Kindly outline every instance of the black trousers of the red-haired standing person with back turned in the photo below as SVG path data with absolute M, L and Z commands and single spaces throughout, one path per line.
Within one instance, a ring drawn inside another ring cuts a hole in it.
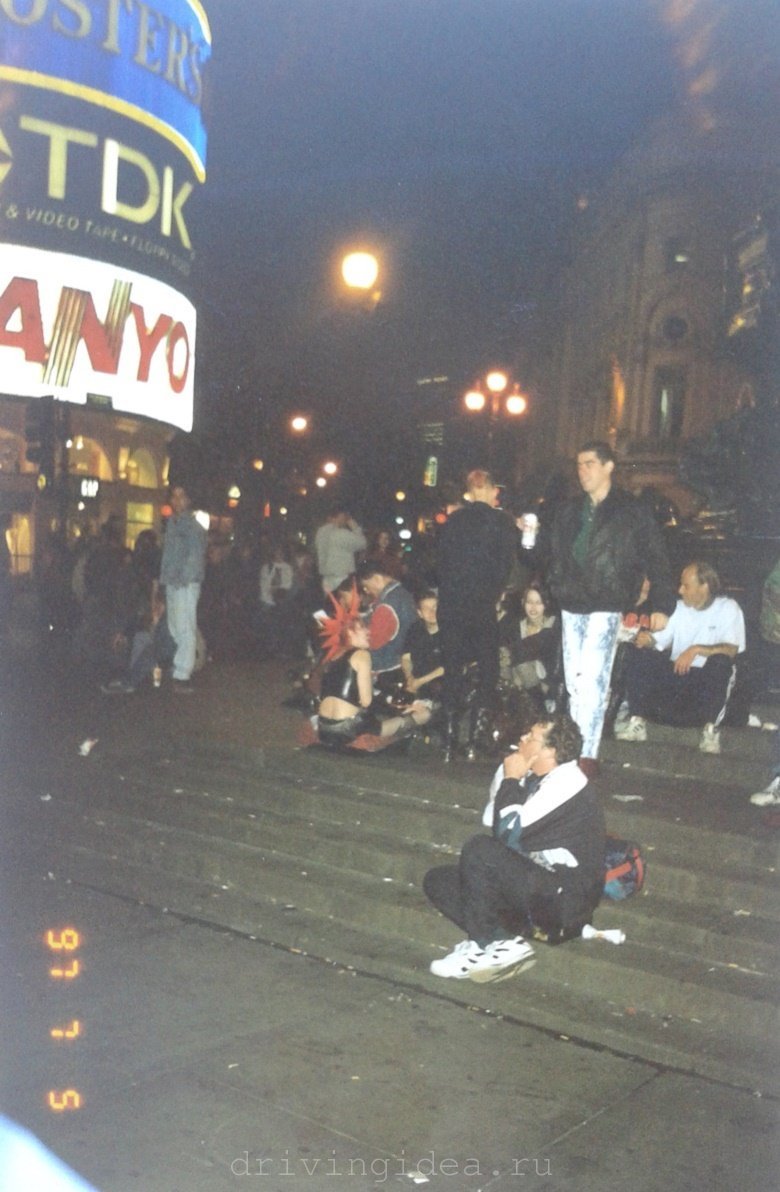
M 499 622 L 488 607 L 476 613 L 457 609 L 439 611 L 441 635 L 441 703 L 445 712 L 458 712 L 463 703 L 464 668 L 476 663 L 479 673 L 479 703 L 489 707 L 499 687 Z

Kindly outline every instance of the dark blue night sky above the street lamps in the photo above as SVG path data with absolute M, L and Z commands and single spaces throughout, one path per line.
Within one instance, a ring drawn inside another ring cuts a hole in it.
M 774 0 L 206 0 L 202 416 L 293 405 L 364 442 L 414 379 L 521 359 L 580 194 L 656 118 L 778 101 Z M 775 45 L 775 50 L 772 45 Z M 694 88 L 695 89 L 695 88 Z M 698 100 L 700 101 L 700 100 Z M 335 292 L 355 242 L 366 315 Z M 346 429 L 345 429 L 346 427 Z

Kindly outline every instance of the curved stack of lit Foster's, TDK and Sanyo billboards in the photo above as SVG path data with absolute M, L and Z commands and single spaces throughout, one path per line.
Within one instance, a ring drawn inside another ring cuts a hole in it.
M 5 392 L 191 428 L 210 54 L 200 0 L 0 0 Z

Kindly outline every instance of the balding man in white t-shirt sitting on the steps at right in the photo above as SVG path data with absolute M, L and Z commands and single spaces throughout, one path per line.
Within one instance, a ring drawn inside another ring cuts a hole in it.
M 636 638 L 626 668 L 631 719 L 615 737 L 646 740 L 648 720 L 704 726 L 699 749 L 719 753 L 735 659 L 745 647 L 744 617 L 735 600 L 720 595 L 720 579 L 708 563 L 685 567 L 680 596 L 666 628 Z

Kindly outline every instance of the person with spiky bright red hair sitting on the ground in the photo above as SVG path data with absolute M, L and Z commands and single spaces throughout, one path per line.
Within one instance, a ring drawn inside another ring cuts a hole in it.
M 431 719 L 431 709 L 414 702 L 402 715 L 380 714 L 373 694 L 369 628 L 360 619 L 358 592 L 353 589 L 349 608 L 338 600 L 332 598 L 332 603 L 335 615 L 322 622 L 326 664 L 320 685 L 320 743 L 340 749 L 364 733 L 411 735 Z

